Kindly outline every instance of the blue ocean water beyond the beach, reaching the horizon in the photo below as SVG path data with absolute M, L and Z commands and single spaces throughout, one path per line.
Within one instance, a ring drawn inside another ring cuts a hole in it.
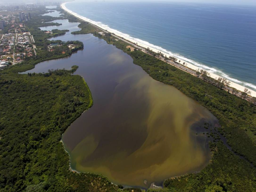
M 256 90 L 256 7 L 104 1 L 66 7 Z

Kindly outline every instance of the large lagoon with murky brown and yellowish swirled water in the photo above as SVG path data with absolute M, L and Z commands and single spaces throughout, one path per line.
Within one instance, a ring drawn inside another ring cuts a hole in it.
M 58 22 L 63 25 L 42 29 L 79 30 L 78 23 Z M 92 108 L 62 136 L 72 169 L 103 174 L 115 184 L 148 188 L 209 163 L 203 124 L 213 126 L 217 119 L 208 110 L 152 79 L 129 55 L 104 40 L 70 32 L 56 39 L 80 40 L 84 50 L 42 62 L 26 73 L 78 65 L 75 74 L 91 89 Z

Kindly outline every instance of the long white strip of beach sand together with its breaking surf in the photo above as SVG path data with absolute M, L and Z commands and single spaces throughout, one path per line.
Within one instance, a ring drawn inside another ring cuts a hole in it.
M 68 12 L 69 14 L 75 16 L 76 18 L 78 18 L 78 19 L 80 19 L 80 20 L 83 20 L 83 21 L 86 21 L 86 22 L 92 24 L 93 26 L 95 26 L 95 27 L 97 27 L 97 28 L 100 28 L 100 29 L 105 30 L 105 31 L 107 30 L 107 31 L 110 32 L 110 33 L 114 33 L 116 36 L 121 37 L 122 40 L 125 39 L 125 40 L 127 40 L 127 41 L 134 42 L 135 44 L 138 44 L 140 47 L 143 47 L 143 48 L 145 48 L 145 49 L 149 48 L 149 49 L 151 49 L 151 50 L 154 51 L 154 52 L 162 52 L 162 53 L 166 54 L 167 57 L 169 57 L 169 56 L 174 56 L 174 57 L 176 57 L 176 58 L 178 58 L 178 59 L 180 60 L 180 63 L 183 63 L 183 62 L 187 63 L 187 67 L 188 67 L 188 68 L 191 68 L 191 69 L 194 69 L 194 70 L 197 70 L 198 68 L 199 68 L 199 69 L 205 69 L 205 70 L 207 70 L 207 71 L 210 73 L 210 76 L 211 76 L 212 78 L 214 78 L 214 79 L 215 79 L 215 78 L 218 79 L 219 77 L 227 78 L 227 80 L 229 80 L 229 81 L 231 82 L 230 87 L 236 88 L 237 90 L 239 90 L 239 91 L 241 91 L 241 92 L 244 92 L 244 88 L 245 88 L 245 87 L 244 87 L 243 85 L 238 84 L 238 83 L 244 83 L 244 84 L 246 84 L 247 86 L 255 86 L 255 85 L 252 85 L 252 84 L 249 84 L 249 83 L 246 83 L 246 82 L 241 82 L 241 81 L 239 81 L 239 80 L 237 80 L 237 79 L 231 78 L 231 77 L 229 77 L 228 75 L 224 74 L 224 73 L 221 72 L 221 71 L 219 71 L 219 72 L 222 73 L 223 76 L 216 75 L 216 74 L 214 74 L 212 71 L 218 72 L 218 70 L 216 70 L 216 69 L 214 69 L 214 68 L 210 68 L 210 67 L 208 67 L 208 66 L 204 66 L 204 65 L 202 65 L 202 64 L 196 63 L 195 61 L 189 60 L 189 59 L 187 59 L 187 58 L 185 58 L 185 57 L 183 57 L 183 56 L 181 56 L 181 55 L 173 54 L 172 52 L 169 52 L 169 51 L 167 51 L 166 49 L 164 49 L 164 48 L 162 48 L 162 47 L 156 46 L 156 45 L 154 45 L 154 44 L 150 44 L 149 42 L 143 41 L 143 40 L 138 39 L 138 38 L 133 38 L 133 37 L 129 36 L 128 34 L 124 34 L 124 33 L 120 32 L 120 31 L 118 31 L 118 30 L 116 30 L 116 29 L 109 28 L 108 25 L 104 25 L 104 24 L 102 24 L 101 22 L 93 21 L 93 20 L 90 20 L 90 19 L 88 19 L 88 18 L 86 18 L 86 17 L 83 17 L 83 16 L 81 16 L 81 15 L 75 13 L 75 12 L 70 11 L 70 10 L 65 6 L 67 3 L 72 3 L 72 2 L 66 2 L 66 3 L 62 3 L 62 4 L 60 5 L 60 7 L 61 7 L 64 11 Z M 134 46 L 134 45 L 133 45 L 133 46 Z M 193 63 L 193 64 L 192 64 L 192 63 Z M 234 82 L 234 81 L 236 81 L 237 83 Z M 255 86 L 255 87 L 256 87 L 256 86 Z M 248 89 L 248 90 L 252 92 L 252 93 L 251 93 L 251 96 L 256 97 L 256 91 L 253 91 L 252 89 Z

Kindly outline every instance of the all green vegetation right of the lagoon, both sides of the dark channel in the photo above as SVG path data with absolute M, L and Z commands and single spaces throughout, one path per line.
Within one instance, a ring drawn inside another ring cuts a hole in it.
M 198 101 L 219 119 L 221 127 L 218 131 L 227 138 L 232 150 L 256 165 L 256 107 L 252 103 L 144 52 L 131 52 L 126 48 L 129 44 L 116 41 L 114 36 L 101 36 L 97 28 L 88 26 L 90 24 L 81 22 L 81 31 L 73 34 L 92 33 L 103 38 L 129 54 L 134 64 L 154 79 L 172 85 Z M 255 167 L 230 152 L 221 141 L 211 143 L 211 149 L 212 162 L 201 172 L 168 179 L 164 189 L 149 191 L 256 191 Z

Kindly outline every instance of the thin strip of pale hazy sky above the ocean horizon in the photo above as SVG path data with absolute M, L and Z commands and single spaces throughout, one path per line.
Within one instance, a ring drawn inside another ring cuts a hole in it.
M 68 1 L 68 0 L 66 0 Z M 76 1 L 95 1 L 95 0 L 76 0 Z M 103 0 L 97 0 L 101 2 Z M 159 2 L 159 0 L 104 0 L 114 2 Z M 256 0 L 160 0 L 162 2 L 189 2 L 189 3 L 214 3 L 214 4 L 241 4 L 241 5 L 256 5 Z M 36 3 L 36 2 L 65 2 L 65 0 L 0 0 L 0 3 Z

